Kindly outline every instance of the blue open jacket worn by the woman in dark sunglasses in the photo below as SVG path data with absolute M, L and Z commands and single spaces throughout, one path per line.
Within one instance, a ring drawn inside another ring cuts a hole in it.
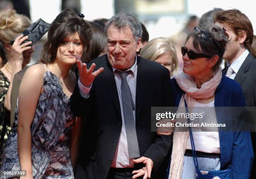
M 173 78 L 174 106 L 184 94 Z M 220 84 L 215 91 L 215 107 L 246 106 L 241 86 L 233 79 L 222 75 Z M 216 118 L 225 116 L 225 111 L 216 110 Z M 253 162 L 253 148 L 250 132 L 219 132 L 220 138 L 220 170 L 231 166 L 233 179 L 249 179 Z

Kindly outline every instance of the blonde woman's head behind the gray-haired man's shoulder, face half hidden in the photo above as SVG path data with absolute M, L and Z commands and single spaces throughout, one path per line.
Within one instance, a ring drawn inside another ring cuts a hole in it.
M 174 45 L 164 37 L 154 38 L 141 49 L 140 56 L 166 67 L 170 76 L 178 70 L 178 58 Z

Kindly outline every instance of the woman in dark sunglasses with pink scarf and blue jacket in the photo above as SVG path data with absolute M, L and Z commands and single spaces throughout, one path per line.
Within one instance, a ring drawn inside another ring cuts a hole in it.
M 204 110 L 202 119 L 209 123 L 219 123 L 223 116 L 217 113 L 217 107 L 223 109 L 245 106 L 241 87 L 234 80 L 225 77 L 219 67 L 228 36 L 225 29 L 219 26 L 212 26 L 208 31 L 195 27 L 193 32 L 182 47 L 183 72 L 174 74 L 172 79 L 175 106 L 179 106 L 178 113 L 193 113 L 197 107 L 209 107 L 209 110 Z M 231 116 L 228 118 L 233 120 Z M 182 120 L 189 123 L 186 118 L 177 119 L 176 124 Z M 219 131 L 220 128 L 195 132 L 196 129 L 190 128 L 191 135 L 188 128 L 183 129 L 177 126 L 174 129 L 167 178 L 195 179 L 199 177 L 200 170 L 209 174 L 209 171 L 217 172 L 211 178 L 249 178 L 253 159 L 249 132 L 223 132 Z M 220 177 L 219 173 L 223 172 L 225 177 Z M 206 178 L 206 175 L 201 178 Z

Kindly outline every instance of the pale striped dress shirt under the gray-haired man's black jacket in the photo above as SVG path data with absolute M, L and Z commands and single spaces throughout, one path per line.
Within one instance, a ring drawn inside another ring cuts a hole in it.
M 124 120 L 124 115 L 123 115 L 123 103 L 122 103 L 122 94 L 121 94 L 121 78 L 118 73 L 115 72 L 114 67 L 112 67 L 113 73 L 115 75 L 115 84 L 118 90 L 118 97 L 119 97 L 119 102 L 120 102 L 120 109 L 121 109 L 121 116 L 122 116 L 122 129 L 118 141 L 118 145 L 115 151 L 115 156 L 113 159 L 113 163 L 111 164 L 111 167 L 115 168 L 127 168 L 127 167 L 133 167 L 133 159 L 129 159 L 129 153 L 128 153 L 128 145 L 127 145 L 127 138 L 126 138 L 126 131 L 125 131 L 125 120 Z M 136 81 L 137 81 L 137 56 L 135 57 L 135 63 L 133 66 L 126 70 L 129 71 L 131 70 L 132 73 L 128 74 L 127 76 L 127 82 L 128 85 L 131 89 L 131 94 L 133 97 L 133 104 L 136 109 Z M 78 87 L 79 91 L 82 97 L 88 98 L 89 97 L 89 92 L 92 87 L 90 85 L 89 88 L 84 87 L 84 85 L 80 82 L 80 79 L 78 80 Z M 135 111 L 133 110 L 133 117 L 135 120 Z

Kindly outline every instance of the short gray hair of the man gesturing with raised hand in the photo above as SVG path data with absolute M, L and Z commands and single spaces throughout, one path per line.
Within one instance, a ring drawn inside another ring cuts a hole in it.
M 105 34 L 107 36 L 108 28 L 113 25 L 116 28 L 125 28 L 128 26 L 132 33 L 133 37 L 136 41 L 138 41 L 138 38 L 142 36 L 142 29 L 141 29 L 141 23 L 138 21 L 138 19 L 129 13 L 120 12 L 116 15 L 113 15 L 112 18 L 110 18 L 106 24 L 105 27 Z

